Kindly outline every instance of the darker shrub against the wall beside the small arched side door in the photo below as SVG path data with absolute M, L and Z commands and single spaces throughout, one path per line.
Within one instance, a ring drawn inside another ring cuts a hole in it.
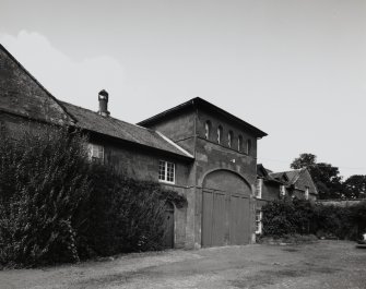
M 181 203 L 186 198 L 156 182 L 126 178 L 99 165 L 94 165 L 91 181 L 87 226 L 80 233 L 83 257 L 163 249 L 165 203 L 172 195 Z

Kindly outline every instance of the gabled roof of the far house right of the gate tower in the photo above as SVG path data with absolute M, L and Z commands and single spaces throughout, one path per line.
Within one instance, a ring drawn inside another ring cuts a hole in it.
M 296 189 L 303 191 L 305 191 L 306 188 L 309 188 L 310 193 L 318 194 L 318 190 L 311 179 L 309 171 L 306 168 L 290 171 L 271 172 L 269 174 L 276 180 L 285 181 L 287 179 L 287 185 L 294 185 Z

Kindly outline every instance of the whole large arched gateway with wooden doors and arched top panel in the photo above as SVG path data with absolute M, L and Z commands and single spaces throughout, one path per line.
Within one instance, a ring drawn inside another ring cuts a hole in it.
M 249 243 L 249 184 L 235 172 L 215 170 L 202 186 L 202 246 Z

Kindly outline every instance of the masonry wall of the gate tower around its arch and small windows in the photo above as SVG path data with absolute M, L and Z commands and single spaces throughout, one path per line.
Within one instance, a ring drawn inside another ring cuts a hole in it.
M 208 120 L 211 123 L 211 134 L 210 139 L 205 140 L 204 124 Z M 223 128 L 220 144 L 216 136 L 219 125 Z M 194 164 L 189 167 L 189 177 L 187 178 L 189 189 L 187 189 L 186 248 L 201 246 L 202 185 L 205 176 L 213 171 L 227 170 L 237 173 L 250 188 L 248 221 L 250 222 L 250 231 L 253 233 L 256 200 L 252 192 L 257 178 L 257 137 L 236 122 L 194 107 L 188 107 L 174 116 L 166 117 L 150 128 L 161 131 L 196 157 Z M 231 147 L 227 145 L 229 131 L 233 132 L 234 136 Z M 241 149 L 237 143 L 239 135 L 243 140 Z M 246 150 L 247 140 L 250 140 L 251 144 L 249 152 Z M 225 178 L 224 173 L 223 178 Z M 223 179 L 224 181 L 225 179 Z M 233 190 L 235 191 L 235 189 Z

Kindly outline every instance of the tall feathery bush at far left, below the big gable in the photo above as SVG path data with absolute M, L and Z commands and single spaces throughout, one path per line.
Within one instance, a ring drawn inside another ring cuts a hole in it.
M 79 260 L 74 213 L 91 189 L 84 139 L 67 129 L 0 137 L 0 263 Z

